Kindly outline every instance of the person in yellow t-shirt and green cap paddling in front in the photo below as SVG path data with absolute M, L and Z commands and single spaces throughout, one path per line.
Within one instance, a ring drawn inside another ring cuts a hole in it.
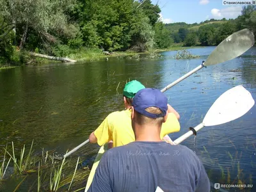
M 98 143 L 100 146 L 113 141 L 113 147 L 126 145 L 135 141 L 131 125 L 131 106 L 134 95 L 145 88 L 139 81 L 130 81 L 124 88 L 124 111 L 110 113 L 99 127 L 90 134 L 90 143 Z M 168 134 L 180 131 L 179 113 L 168 104 L 168 118 L 164 122 L 160 136 L 164 140 L 170 140 Z M 171 140 L 172 141 L 172 140 Z M 110 147 L 111 148 L 111 147 Z

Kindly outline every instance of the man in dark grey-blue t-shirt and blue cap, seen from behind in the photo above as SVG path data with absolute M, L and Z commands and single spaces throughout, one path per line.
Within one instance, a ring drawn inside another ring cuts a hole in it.
M 142 89 L 131 110 L 136 141 L 102 156 L 88 191 L 210 191 L 209 178 L 196 154 L 159 137 L 168 116 L 164 94 L 154 88 Z

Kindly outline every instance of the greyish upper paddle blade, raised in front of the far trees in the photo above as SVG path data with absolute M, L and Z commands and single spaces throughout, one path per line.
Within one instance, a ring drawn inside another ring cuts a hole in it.
M 204 65 L 216 65 L 218 63 L 233 60 L 250 49 L 254 42 L 254 35 L 249 29 L 237 31 L 225 38 L 225 40 L 212 51 Z

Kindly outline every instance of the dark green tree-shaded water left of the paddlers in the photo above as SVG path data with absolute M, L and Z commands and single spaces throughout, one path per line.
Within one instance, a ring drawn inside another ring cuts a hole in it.
M 0 77 L 0 126 L 4 130 L 0 143 L 4 145 L 15 131 L 12 140 L 20 145 L 33 139 L 38 145 L 49 145 L 86 137 L 108 113 L 124 108 L 126 81 L 138 79 L 154 87 L 162 67 L 154 60 L 109 59 L 4 70 Z

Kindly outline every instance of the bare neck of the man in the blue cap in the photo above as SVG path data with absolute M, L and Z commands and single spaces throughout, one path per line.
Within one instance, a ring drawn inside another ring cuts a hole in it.
M 155 126 L 147 125 L 136 127 L 135 141 L 163 141 L 160 138 L 161 129 L 156 129 Z

